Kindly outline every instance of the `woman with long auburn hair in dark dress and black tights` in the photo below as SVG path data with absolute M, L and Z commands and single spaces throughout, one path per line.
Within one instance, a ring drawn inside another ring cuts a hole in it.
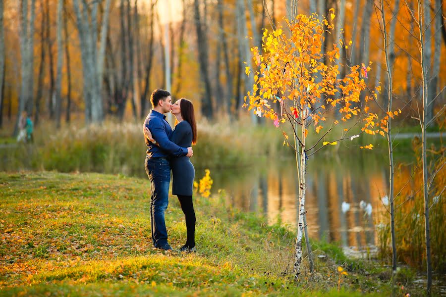
M 176 118 L 175 128 L 170 135 L 170 141 L 184 148 L 197 142 L 197 125 L 195 123 L 194 105 L 185 98 L 177 100 L 170 111 Z M 152 140 L 152 135 L 146 135 Z M 180 251 L 195 251 L 195 211 L 192 203 L 193 183 L 195 177 L 194 165 L 187 156 L 170 157 L 172 170 L 172 194 L 178 197 L 181 209 L 186 217 L 187 240 Z

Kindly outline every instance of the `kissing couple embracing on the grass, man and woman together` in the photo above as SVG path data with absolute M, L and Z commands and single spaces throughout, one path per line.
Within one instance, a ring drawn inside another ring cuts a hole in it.
M 194 105 L 185 98 L 172 104 L 166 90 L 153 91 L 150 102 L 152 111 L 144 121 L 143 133 L 147 145 L 144 167 L 149 176 L 152 197 L 150 201 L 150 222 L 153 245 L 172 250 L 167 242 L 165 212 L 168 205 L 170 170 L 172 170 L 172 194 L 178 197 L 186 217 L 187 240 L 180 251 L 195 251 L 195 211 L 192 203 L 194 165 L 192 144 L 197 142 Z M 172 130 L 165 113 L 176 118 Z

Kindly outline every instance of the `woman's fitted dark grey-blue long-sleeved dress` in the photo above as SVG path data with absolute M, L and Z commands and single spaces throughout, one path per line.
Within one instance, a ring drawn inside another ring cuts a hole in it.
M 176 145 L 188 148 L 192 146 L 192 127 L 186 121 L 179 122 L 172 131 L 170 141 Z M 170 168 L 172 169 L 173 182 L 172 194 L 192 196 L 195 169 L 190 158 L 170 157 Z

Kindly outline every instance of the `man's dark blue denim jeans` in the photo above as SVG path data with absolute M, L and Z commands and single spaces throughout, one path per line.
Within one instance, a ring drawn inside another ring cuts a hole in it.
M 167 230 L 164 213 L 169 203 L 170 164 L 166 158 L 149 158 L 145 161 L 152 197 L 150 200 L 150 222 L 155 247 L 167 244 Z

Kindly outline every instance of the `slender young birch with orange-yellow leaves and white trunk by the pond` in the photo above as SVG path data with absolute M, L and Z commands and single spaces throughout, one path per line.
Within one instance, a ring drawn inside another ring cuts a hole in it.
M 329 15 L 333 20 L 334 9 L 330 9 Z M 248 76 L 254 76 L 254 84 L 252 91 L 245 97 L 244 106 L 257 116 L 273 120 L 274 125 L 282 130 L 284 144 L 296 152 L 300 189 L 294 260 L 294 277 L 297 280 L 303 259 L 307 159 L 321 149 L 337 145 L 337 142 L 353 141 L 358 135 L 354 135 L 351 128 L 361 120 L 365 123 L 361 133 L 384 134 L 386 126 L 375 113 L 368 112 L 367 104 L 365 106 L 358 104 L 359 95 L 366 88 L 362 78 L 370 71 L 370 67 L 352 66 L 344 77 L 338 79 L 338 68 L 322 62 L 324 58 L 329 61 L 339 58 L 336 46 L 324 54 L 321 53 L 324 45 L 322 33 L 325 30 L 333 31 L 333 25 L 325 18 L 320 21 L 317 15 L 308 17 L 302 14 L 297 16 L 295 24 L 290 24 L 287 20 L 287 25 L 291 29 L 291 37 L 287 37 L 280 27 L 271 33 L 265 30 L 263 43 L 265 51 L 259 52 L 257 47 L 252 49 L 253 60 L 260 70 L 251 73 L 250 68 L 246 69 Z M 318 74 L 320 80 L 316 80 Z M 366 103 L 374 96 L 375 91 L 372 91 L 371 96 L 365 97 Z M 327 99 L 322 101 L 324 97 Z M 274 110 L 271 106 L 277 101 L 280 109 Z M 320 107 L 310 110 L 309 107 L 314 106 L 317 101 Z M 339 121 L 328 115 L 336 108 L 343 114 L 341 121 L 353 124 L 347 131 L 338 132 L 339 135 L 334 136 L 329 133 Z M 296 145 L 293 145 L 287 131 L 283 129 L 285 123 L 288 124 L 288 129 L 291 129 Z M 314 143 L 310 143 L 308 141 L 310 131 L 322 136 Z M 372 149 L 373 145 L 361 148 Z

